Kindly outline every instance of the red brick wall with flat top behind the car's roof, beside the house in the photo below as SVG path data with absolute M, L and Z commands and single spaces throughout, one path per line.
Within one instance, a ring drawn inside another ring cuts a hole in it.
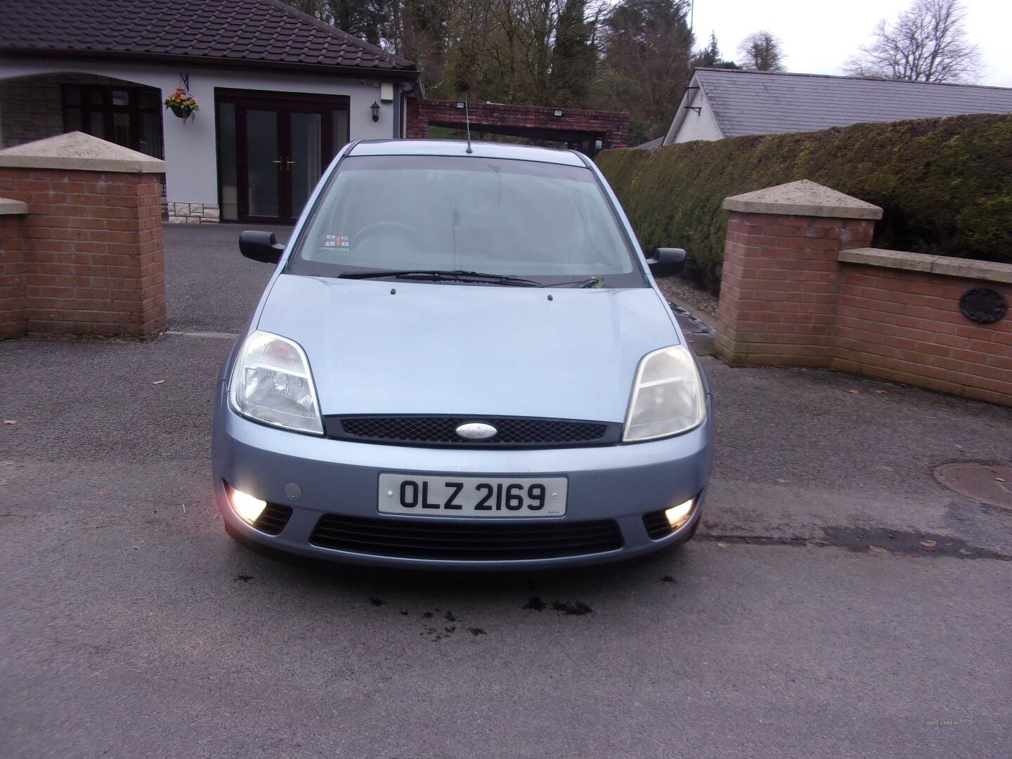
M 595 136 L 602 140 L 605 148 L 625 145 L 629 114 L 624 111 L 563 108 L 563 115 L 554 113 L 555 108 L 538 105 L 468 104 L 468 116 L 476 132 L 482 126 L 558 130 Z M 454 100 L 409 100 L 407 137 L 428 137 L 430 123 L 463 129 L 463 109 L 457 108 Z

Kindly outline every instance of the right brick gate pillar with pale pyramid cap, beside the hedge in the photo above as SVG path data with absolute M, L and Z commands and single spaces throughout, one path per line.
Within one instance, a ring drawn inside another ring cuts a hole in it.
M 731 364 L 829 366 L 840 250 L 871 243 L 881 208 L 800 180 L 729 197 L 715 351 Z

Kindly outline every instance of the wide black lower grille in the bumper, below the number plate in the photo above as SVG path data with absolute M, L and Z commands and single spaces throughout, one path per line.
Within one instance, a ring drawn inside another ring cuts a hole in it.
M 611 519 L 477 524 L 441 518 L 375 519 L 325 514 L 317 522 L 310 542 L 325 549 L 398 559 L 505 562 L 615 551 L 622 546 L 622 535 Z

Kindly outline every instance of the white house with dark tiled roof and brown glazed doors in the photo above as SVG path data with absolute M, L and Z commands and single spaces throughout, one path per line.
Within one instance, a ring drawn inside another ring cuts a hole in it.
M 0 148 L 81 131 L 164 158 L 172 222 L 293 221 L 344 143 L 404 136 L 424 95 L 409 61 L 279 0 L 4 5 Z

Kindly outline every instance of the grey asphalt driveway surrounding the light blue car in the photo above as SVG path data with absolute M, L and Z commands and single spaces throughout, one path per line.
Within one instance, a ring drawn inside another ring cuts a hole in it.
M 0 343 L 0 756 L 1008 756 L 1012 511 L 931 471 L 1008 463 L 1012 410 L 731 369 L 697 332 L 718 457 L 683 551 L 292 566 L 210 499 L 216 333 L 269 267 L 165 232 L 169 334 Z

